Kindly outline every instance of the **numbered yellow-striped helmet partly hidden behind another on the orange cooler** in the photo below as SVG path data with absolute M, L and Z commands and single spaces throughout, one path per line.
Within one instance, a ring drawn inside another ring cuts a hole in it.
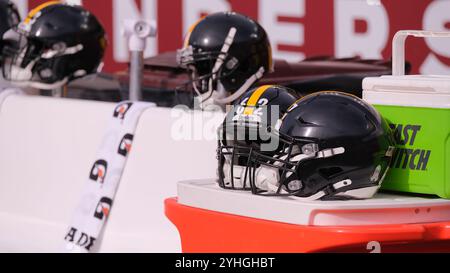
M 245 93 L 228 112 L 219 128 L 219 186 L 250 190 L 247 168 L 252 153 L 272 156 L 279 149 L 270 133 L 296 98 L 295 91 L 266 85 Z

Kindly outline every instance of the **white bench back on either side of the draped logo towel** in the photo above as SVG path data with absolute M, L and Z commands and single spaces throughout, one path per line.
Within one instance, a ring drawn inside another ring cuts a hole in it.
M 25 96 L 4 101 L 0 252 L 61 250 L 114 106 Z M 181 251 L 163 202 L 176 196 L 177 181 L 215 176 L 217 143 L 174 140 L 174 122 L 170 109 L 154 108 L 141 117 L 100 252 Z

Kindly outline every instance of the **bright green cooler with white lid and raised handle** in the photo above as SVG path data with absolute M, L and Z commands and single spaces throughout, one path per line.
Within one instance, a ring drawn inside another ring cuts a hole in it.
M 398 32 L 393 75 L 363 82 L 364 99 L 389 121 L 398 144 L 383 188 L 450 199 L 450 75 L 405 76 L 408 36 L 450 38 L 450 32 Z

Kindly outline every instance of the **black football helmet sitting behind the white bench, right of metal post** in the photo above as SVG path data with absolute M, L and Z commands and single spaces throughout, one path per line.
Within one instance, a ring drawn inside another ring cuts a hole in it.
M 266 31 L 235 12 L 214 13 L 192 26 L 177 60 L 201 102 L 219 105 L 231 104 L 273 70 Z

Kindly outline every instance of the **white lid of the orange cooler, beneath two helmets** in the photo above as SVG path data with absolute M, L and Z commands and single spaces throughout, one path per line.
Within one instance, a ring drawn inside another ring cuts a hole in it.
M 182 205 L 307 226 L 366 226 L 450 221 L 450 200 L 378 194 L 357 201 L 299 201 L 223 190 L 214 180 L 178 183 Z

